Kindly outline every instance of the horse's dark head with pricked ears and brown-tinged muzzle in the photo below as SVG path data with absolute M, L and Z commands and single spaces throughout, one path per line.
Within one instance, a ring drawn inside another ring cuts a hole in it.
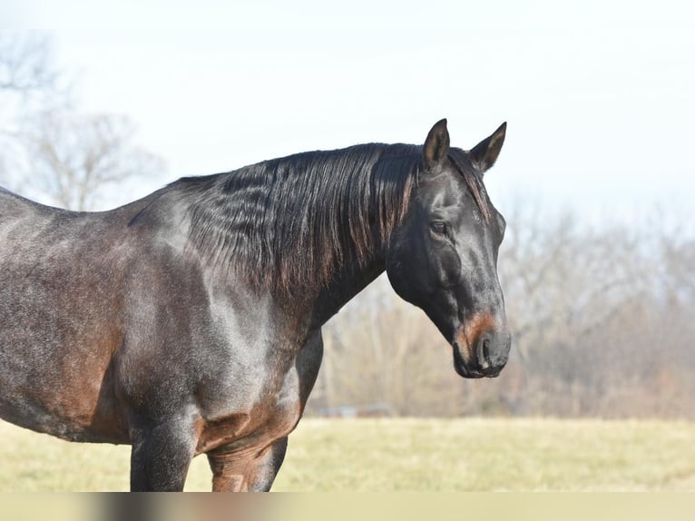
M 505 222 L 483 184 L 505 130 L 506 123 L 464 151 L 450 147 L 446 120 L 436 123 L 406 214 L 387 247 L 391 285 L 436 324 L 465 378 L 496 377 L 511 346 L 497 277 Z

